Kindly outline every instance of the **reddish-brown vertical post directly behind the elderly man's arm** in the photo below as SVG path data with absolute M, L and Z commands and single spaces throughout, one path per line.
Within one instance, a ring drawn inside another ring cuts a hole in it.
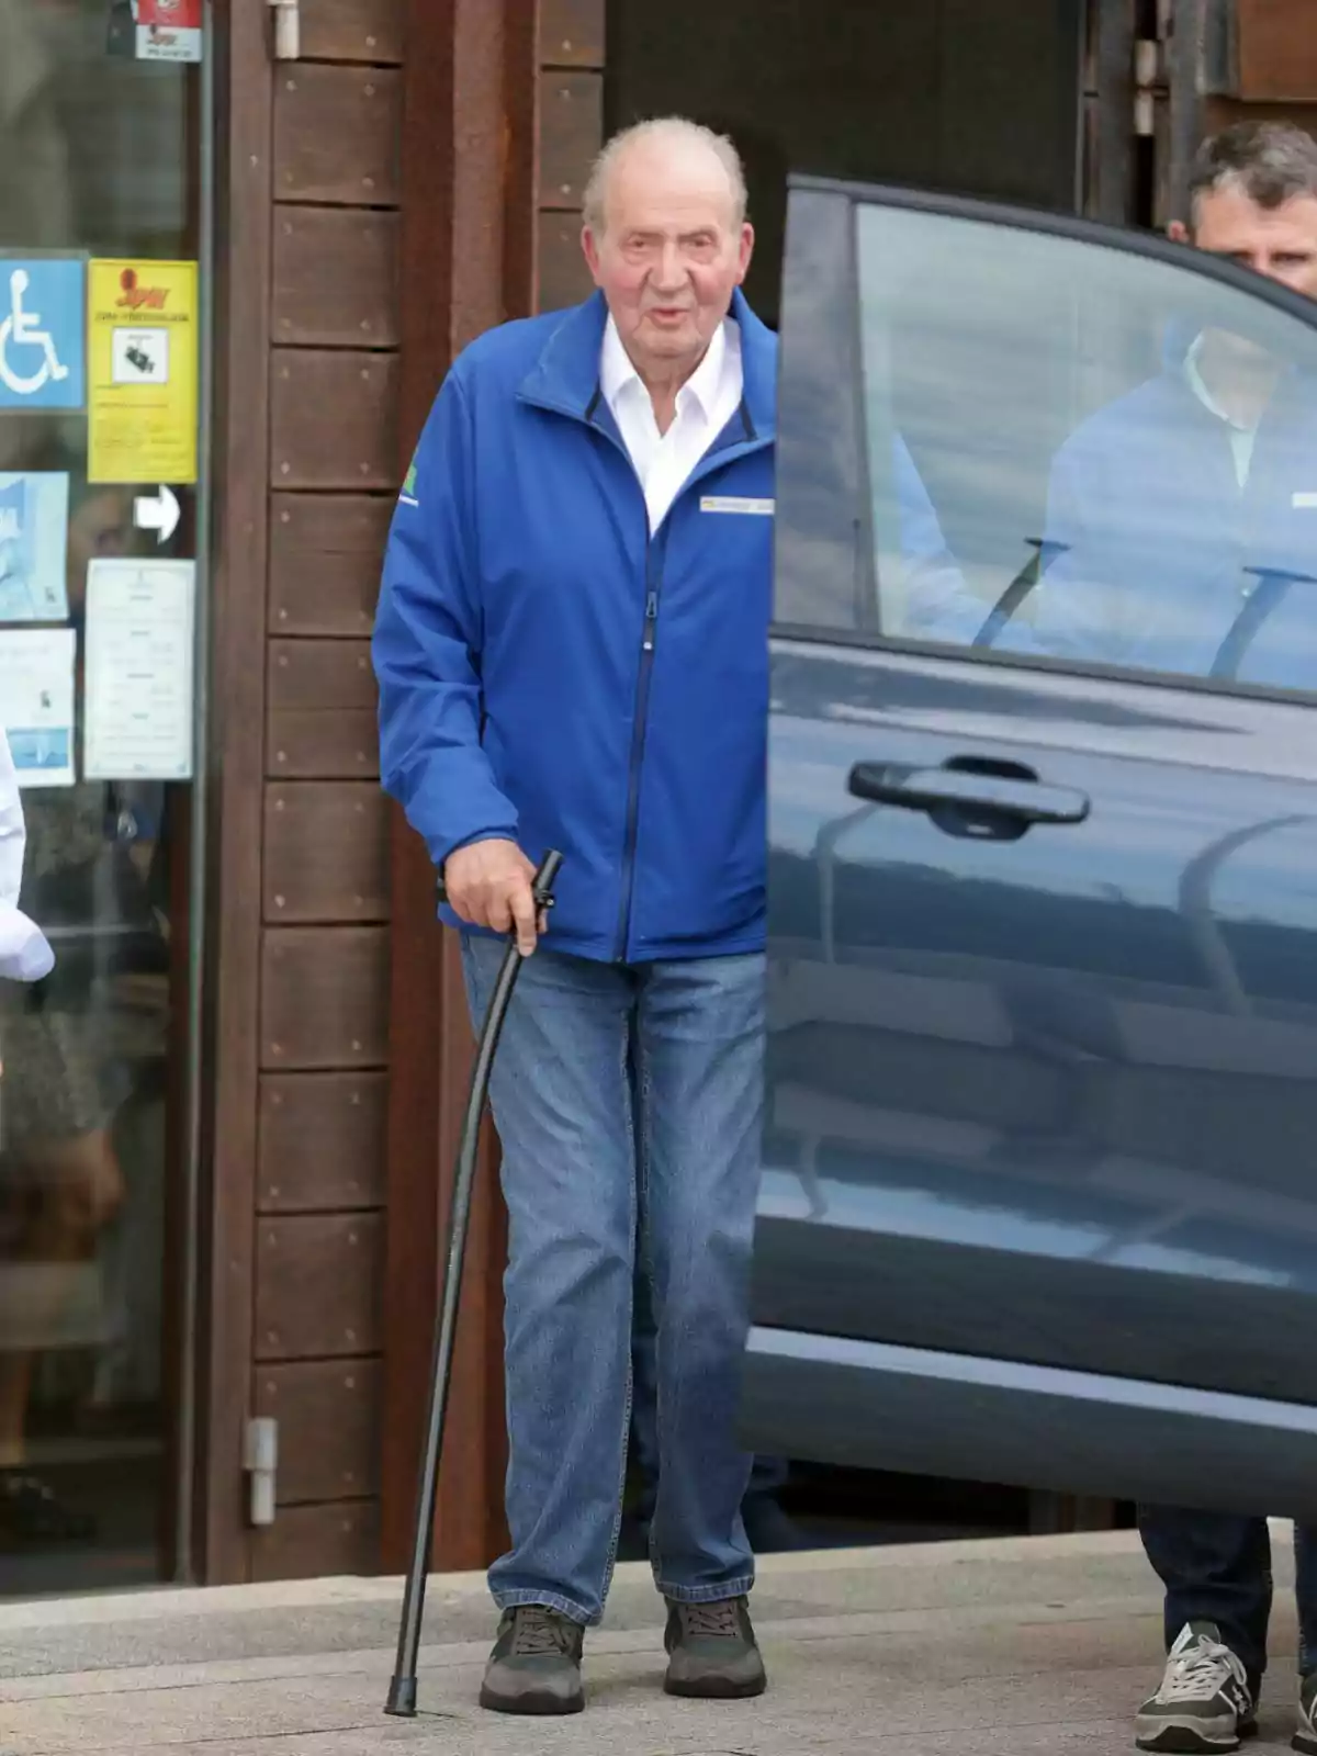
M 407 0 L 402 116 L 400 465 L 455 355 L 534 309 L 537 0 Z M 395 811 L 381 1563 L 414 1519 L 451 1168 L 471 1068 L 455 936 L 434 869 Z M 502 1259 L 497 1147 L 486 1129 L 467 1247 L 435 1565 L 483 1566 L 502 1542 Z

